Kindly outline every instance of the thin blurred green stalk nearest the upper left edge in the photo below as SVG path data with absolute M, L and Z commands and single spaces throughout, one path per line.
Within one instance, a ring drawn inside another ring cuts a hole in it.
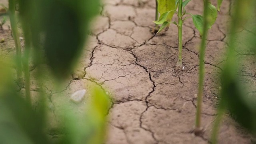
M 12 36 L 15 42 L 16 48 L 16 72 L 17 72 L 17 81 L 19 84 L 23 83 L 22 77 L 22 58 L 21 58 L 21 46 L 20 46 L 20 38 L 18 33 L 18 26 L 15 14 L 15 0 L 9 0 L 9 16 L 12 28 Z

